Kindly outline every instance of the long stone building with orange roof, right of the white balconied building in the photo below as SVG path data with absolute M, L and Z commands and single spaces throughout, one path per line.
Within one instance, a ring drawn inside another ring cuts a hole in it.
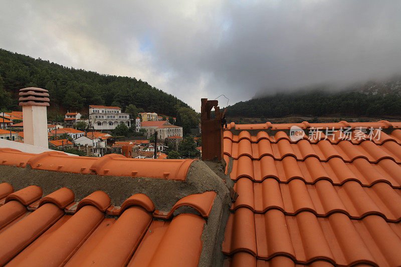
M 157 138 L 164 140 L 170 136 L 182 137 L 182 127 L 172 125 L 168 121 L 145 121 L 141 122 L 141 129 L 146 129 L 146 136 L 149 138 L 157 131 Z

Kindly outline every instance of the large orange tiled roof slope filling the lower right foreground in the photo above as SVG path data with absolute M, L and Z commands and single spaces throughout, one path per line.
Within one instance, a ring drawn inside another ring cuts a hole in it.
M 227 264 L 400 265 L 401 130 L 380 133 L 294 142 L 284 132 L 225 131 L 238 193 L 222 246 Z

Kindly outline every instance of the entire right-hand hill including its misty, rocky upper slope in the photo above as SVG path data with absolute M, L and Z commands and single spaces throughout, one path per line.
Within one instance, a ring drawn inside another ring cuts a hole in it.
M 258 93 L 228 107 L 229 117 L 400 116 L 401 76 L 343 87 L 317 85 L 283 93 Z

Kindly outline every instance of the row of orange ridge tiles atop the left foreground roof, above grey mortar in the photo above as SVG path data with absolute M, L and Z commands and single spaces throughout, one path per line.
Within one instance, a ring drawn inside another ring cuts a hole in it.
M 101 158 L 68 156 L 50 151 L 41 154 L 24 153 L 16 149 L 0 148 L 0 165 L 82 174 L 150 177 L 185 180 L 192 159 L 131 159 L 108 154 Z

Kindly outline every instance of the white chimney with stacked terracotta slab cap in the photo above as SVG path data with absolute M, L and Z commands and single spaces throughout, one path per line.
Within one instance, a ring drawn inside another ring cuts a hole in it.
M 20 106 L 24 117 L 24 143 L 49 148 L 47 135 L 47 106 L 49 91 L 29 87 L 20 90 Z

